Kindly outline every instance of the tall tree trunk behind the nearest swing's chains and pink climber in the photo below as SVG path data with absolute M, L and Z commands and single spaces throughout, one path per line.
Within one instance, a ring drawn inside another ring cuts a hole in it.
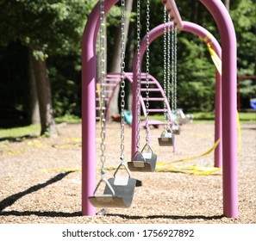
M 130 22 L 130 13 L 133 8 L 133 1 L 127 1 L 126 3 L 126 18 L 125 18 L 125 46 L 128 40 L 128 29 L 129 29 L 129 22 Z M 110 66 L 110 72 L 120 72 L 121 71 L 121 28 L 116 28 L 116 40 L 115 40 L 115 46 L 113 50 L 113 57 L 112 57 L 112 63 Z M 118 108 L 118 96 L 119 96 L 119 90 L 120 88 L 116 88 L 116 91 L 112 97 L 112 101 L 109 105 L 109 117 L 111 115 L 119 114 L 119 108 Z M 109 120 L 108 120 L 109 121 Z

